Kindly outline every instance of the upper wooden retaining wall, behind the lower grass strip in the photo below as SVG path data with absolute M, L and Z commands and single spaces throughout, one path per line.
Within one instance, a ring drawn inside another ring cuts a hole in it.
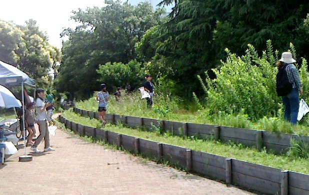
M 97 112 L 84 111 L 74 108 L 76 113 L 93 118 L 97 116 Z M 216 126 L 207 124 L 183 123 L 168 120 L 157 120 L 152 118 L 140 118 L 132 116 L 120 116 L 116 114 L 106 114 L 106 119 L 111 122 L 121 122 L 129 127 L 144 126 L 150 129 L 152 126 L 160 127 L 164 131 L 169 131 L 173 135 L 178 136 L 196 136 L 199 139 L 212 138 L 222 142 L 232 141 L 241 143 L 246 146 L 255 146 L 257 149 L 265 147 L 267 150 L 275 152 L 286 152 L 290 146 L 291 138 L 309 143 L 309 136 L 272 133 L 263 130 L 244 129 L 227 126 Z

